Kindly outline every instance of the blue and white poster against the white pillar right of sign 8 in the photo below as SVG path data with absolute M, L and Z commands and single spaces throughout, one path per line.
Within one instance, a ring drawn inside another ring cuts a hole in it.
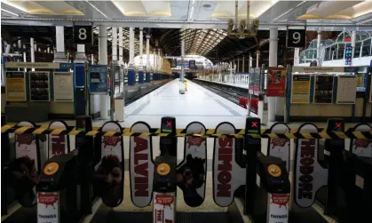
M 106 65 L 89 67 L 89 89 L 91 93 L 106 94 L 108 92 Z

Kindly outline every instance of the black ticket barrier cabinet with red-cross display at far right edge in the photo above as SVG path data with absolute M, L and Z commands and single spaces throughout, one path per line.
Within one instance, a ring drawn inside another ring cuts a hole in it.
M 327 131 L 344 131 L 344 120 L 328 119 Z M 363 222 L 372 211 L 372 158 L 344 149 L 344 139 L 325 139 L 328 185 L 316 196 L 324 214 L 338 222 Z

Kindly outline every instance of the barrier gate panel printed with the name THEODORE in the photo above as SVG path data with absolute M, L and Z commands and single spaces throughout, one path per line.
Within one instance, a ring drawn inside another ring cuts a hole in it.
M 304 123 L 298 132 L 318 132 L 313 123 Z M 294 167 L 294 199 L 299 207 L 313 205 L 318 190 L 328 183 L 328 170 L 318 162 L 319 139 L 297 139 Z

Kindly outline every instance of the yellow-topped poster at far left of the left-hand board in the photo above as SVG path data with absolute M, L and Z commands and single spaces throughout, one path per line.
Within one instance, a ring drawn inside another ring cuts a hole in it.
M 26 73 L 20 71 L 7 71 L 5 74 L 6 100 L 27 101 Z

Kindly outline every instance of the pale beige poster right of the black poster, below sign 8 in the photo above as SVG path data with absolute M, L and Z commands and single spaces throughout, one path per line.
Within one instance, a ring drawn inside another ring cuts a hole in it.
M 74 76 L 71 72 L 54 72 L 53 89 L 55 101 L 74 101 Z

